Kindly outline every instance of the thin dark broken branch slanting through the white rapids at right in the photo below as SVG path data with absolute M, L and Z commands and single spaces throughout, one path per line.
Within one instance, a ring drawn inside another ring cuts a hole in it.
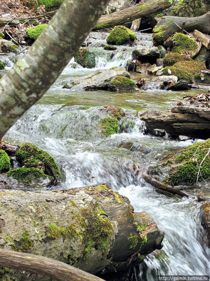
M 189 193 L 187 193 L 187 192 L 185 192 L 185 191 L 183 191 L 183 190 L 181 190 L 181 189 L 179 189 L 175 186 L 163 184 L 160 181 L 152 178 L 150 175 L 148 175 L 146 173 L 143 173 L 142 177 L 147 183 L 151 184 L 152 186 L 154 186 L 155 188 L 158 188 L 160 190 L 164 190 L 164 191 L 167 191 L 167 192 L 172 193 L 172 194 L 177 194 L 177 195 L 180 195 L 181 197 L 195 198 L 198 201 L 206 200 L 206 198 L 203 198 L 202 196 L 190 195 Z

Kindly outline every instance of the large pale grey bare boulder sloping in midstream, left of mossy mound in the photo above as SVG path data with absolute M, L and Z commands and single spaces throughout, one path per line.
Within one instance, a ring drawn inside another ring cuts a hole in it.
M 72 91 L 109 90 L 111 81 L 117 76 L 130 78 L 130 74 L 124 67 L 98 69 L 67 82 L 63 88 L 71 89 Z M 113 90 L 113 87 L 111 87 L 111 90 Z

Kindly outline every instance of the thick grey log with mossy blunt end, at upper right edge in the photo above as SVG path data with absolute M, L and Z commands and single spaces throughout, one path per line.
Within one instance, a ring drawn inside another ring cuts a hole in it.
M 210 34 L 210 12 L 200 17 L 173 17 L 165 16 L 157 22 L 153 28 L 153 43 L 160 45 L 175 32 L 181 32 L 181 27 L 185 21 L 184 30 L 193 32 L 197 29 L 200 32 Z

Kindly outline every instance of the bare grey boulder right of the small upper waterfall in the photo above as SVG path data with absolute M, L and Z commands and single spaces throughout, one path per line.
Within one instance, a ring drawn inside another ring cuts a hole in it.
M 160 52 L 158 50 L 158 47 L 142 47 L 133 50 L 132 52 L 133 59 L 138 59 L 139 61 L 142 60 L 142 58 L 150 59 L 150 58 L 159 58 Z

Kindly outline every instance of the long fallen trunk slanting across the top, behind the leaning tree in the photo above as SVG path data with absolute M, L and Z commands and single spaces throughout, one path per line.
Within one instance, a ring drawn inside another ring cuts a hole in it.
M 139 17 L 159 12 L 170 6 L 171 4 L 168 0 L 148 0 L 142 4 L 134 5 L 122 11 L 101 16 L 94 30 L 120 25 L 125 22 L 131 22 Z

